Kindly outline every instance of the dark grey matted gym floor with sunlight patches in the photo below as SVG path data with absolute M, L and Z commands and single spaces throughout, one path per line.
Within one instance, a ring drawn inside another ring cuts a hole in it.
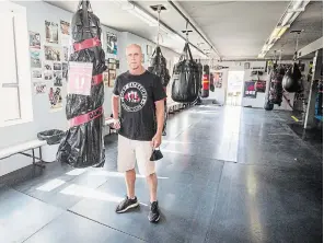
M 116 142 L 106 137 L 104 170 L 54 163 L 7 183 L 0 242 L 322 242 L 322 157 L 279 113 L 196 106 L 171 117 L 157 162 L 159 224 L 147 219 L 143 177 L 140 208 L 115 213 L 125 196 Z

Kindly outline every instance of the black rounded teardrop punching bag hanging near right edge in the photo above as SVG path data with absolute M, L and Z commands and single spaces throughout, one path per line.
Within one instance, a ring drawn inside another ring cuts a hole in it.
M 300 79 L 301 72 L 298 65 L 294 62 L 293 66 L 288 69 L 282 79 L 282 88 L 289 93 L 299 92 L 301 89 Z

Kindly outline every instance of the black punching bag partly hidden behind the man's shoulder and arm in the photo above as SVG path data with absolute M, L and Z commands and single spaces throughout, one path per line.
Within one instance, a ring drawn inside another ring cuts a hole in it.
M 166 59 L 163 57 L 160 46 L 157 46 L 152 54 L 151 63 L 148 70 L 155 76 L 160 77 L 164 91 L 166 92 L 166 86 L 170 82 L 170 74 L 166 68 Z M 166 99 L 164 99 L 164 126 L 163 126 L 163 135 L 166 135 L 166 119 L 167 119 L 167 106 Z

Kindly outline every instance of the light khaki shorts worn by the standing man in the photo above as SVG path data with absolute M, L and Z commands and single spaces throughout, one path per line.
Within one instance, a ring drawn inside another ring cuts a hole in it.
M 152 154 L 151 141 L 130 140 L 118 135 L 118 171 L 135 169 L 137 162 L 139 173 L 144 176 L 155 173 L 155 163 L 150 161 Z

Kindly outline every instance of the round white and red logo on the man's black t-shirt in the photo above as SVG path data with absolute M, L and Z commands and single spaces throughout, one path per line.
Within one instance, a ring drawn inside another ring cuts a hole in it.
M 121 106 L 127 112 L 138 112 L 147 103 L 147 90 L 138 82 L 130 82 L 120 92 Z

